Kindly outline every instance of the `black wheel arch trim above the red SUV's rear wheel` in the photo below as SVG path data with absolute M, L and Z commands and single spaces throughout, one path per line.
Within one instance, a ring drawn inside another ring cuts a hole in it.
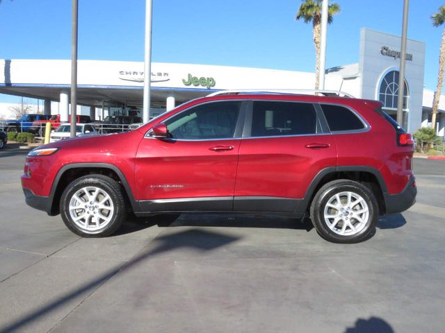
M 325 169 L 322 169 L 319 171 L 314 179 L 312 180 L 311 184 L 306 190 L 304 198 L 302 200 L 299 200 L 297 212 L 306 212 L 309 208 L 309 205 L 311 203 L 311 200 L 314 196 L 314 192 L 318 185 L 320 184 L 321 180 L 325 178 L 325 176 L 329 175 L 330 173 L 336 173 L 341 171 L 362 171 L 362 172 L 368 172 L 371 173 L 375 178 L 377 178 L 378 183 L 380 185 L 380 189 L 382 189 L 383 197 L 386 198 L 387 196 L 387 185 L 385 183 L 385 180 L 383 179 L 382 174 L 378 169 L 375 169 L 373 167 L 367 167 L 362 165 L 347 165 L 347 166 L 337 166 L 337 167 L 327 167 Z

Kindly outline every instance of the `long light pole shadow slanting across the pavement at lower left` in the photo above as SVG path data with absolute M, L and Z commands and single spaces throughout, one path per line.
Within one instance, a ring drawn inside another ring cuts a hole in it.
M 238 241 L 241 237 L 234 237 L 233 235 L 224 234 L 223 232 L 210 232 L 200 230 L 197 228 L 183 230 L 166 234 L 165 236 L 156 237 L 156 239 L 149 242 L 150 246 L 146 246 L 136 257 L 133 257 L 129 262 L 115 266 L 106 272 L 99 275 L 88 282 L 81 284 L 74 291 L 61 293 L 58 298 L 50 302 L 43 303 L 42 306 L 34 309 L 28 314 L 24 314 L 15 321 L 0 327 L 0 332 L 15 332 L 25 330 L 26 325 L 31 325 L 34 321 L 42 316 L 47 316 L 52 311 L 67 305 L 74 298 L 83 294 L 83 299 L 79 300 L 79 304 L 83 302 L 86 297 L 89 297 L 94 291 L 99 289 L 103 284 L 110 280 L 116 273 L 122 273 L 133 269 L 142 262 L 146 262 L 152 257 L 161 253 L 166 253 L 178 248 L 191 248 L 197 252 L 211 251 L 221 246 L 226 246 L 234 241 Z M 148 244 L 147 244 L 148 245 Z M 54 323 L 56 325 L 56 323 Z M 30 330 L 30 327 L 26 327 Z M 32 330 L 31 330 L 32 331 Z

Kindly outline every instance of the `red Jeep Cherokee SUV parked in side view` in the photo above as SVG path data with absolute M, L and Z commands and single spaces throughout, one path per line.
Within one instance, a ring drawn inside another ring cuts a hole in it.
M 366 239 L 379 215 L 415 200 L 411 135 L 377 101 L 226 94 L 185 103 L 127 133 L 40 146 L 26 157 L 26 203 L 83 237 L 131 210 L 301 218 L 322 237 Z

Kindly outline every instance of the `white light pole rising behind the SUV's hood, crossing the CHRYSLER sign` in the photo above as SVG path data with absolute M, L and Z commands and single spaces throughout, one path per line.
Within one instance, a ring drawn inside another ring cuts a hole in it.
M 150 78 L 152 77 L 152 0 L 145 0 L 145 58 L 143 122 L 150 119 Z

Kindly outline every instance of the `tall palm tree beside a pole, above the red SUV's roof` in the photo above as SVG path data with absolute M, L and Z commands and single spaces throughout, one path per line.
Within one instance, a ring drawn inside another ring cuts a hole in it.
M 302 0 L 300 8 L 298 8 L 296 21 L 302 19 L 305 23 L 312 22 L 312 32 L 314 33 L 314 44 L 316 51 L 316 67 L 315 67 L 315 89 L 318 89 L 318 74 L 320 72 L 320 43 L 321 43 L 321 3 L 323 0 Z M 329 5 L 329 15 L 327 22 L 332 23 L 332 17 L 340 11 L 338 3 Z

